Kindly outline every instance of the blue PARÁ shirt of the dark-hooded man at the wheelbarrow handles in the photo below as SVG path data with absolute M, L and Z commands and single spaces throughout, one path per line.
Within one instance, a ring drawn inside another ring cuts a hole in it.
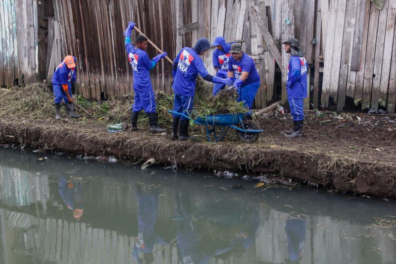
M 202 78 L 208 75 L 202 59 L 192 48 L 185 47 L 175 58 L 174 63 L 177 63 L 177 70 L 172 86 L 173 91 L 182 96 L 194 96 L 198 73 Z

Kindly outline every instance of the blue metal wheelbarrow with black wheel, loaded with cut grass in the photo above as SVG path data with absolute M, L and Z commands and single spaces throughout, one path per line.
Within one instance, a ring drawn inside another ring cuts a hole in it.
M 168 113 L 184 116 L 193 120 L 197 125 L 206 126 L 206 137 L 208 142 L 223 140 L 230 128 L 235 129 L 238 138 L 245 143 L 256 141 L 260 133 L 263 132 L 253 120 L 244 118 L 245 113 L 205 115 L 204 117 L 198 116 L 196 119 L 179 112 L 168 111 Z M 220 133 L 216 133 L 216 127 L 220 128 Z

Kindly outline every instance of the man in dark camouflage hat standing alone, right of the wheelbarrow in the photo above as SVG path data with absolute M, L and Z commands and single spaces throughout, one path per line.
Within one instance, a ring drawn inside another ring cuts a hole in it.
M 288 77 L 286 81 L 286 90 L 290 112 L 293 116 L 293 130 L 282 131 L 286 138 L 300 137 L 304 122 L 303 100 L 307 97 L 307 64 L 305 53 L 300 49 L 298 40 L 290 38 L 285 41 L 285 52 L 291 53 L 292 56 L 288 65 Z

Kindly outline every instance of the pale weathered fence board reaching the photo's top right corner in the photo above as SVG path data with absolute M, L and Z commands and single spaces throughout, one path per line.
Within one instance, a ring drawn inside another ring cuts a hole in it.
M 380 106 L 386 106 L 387 104 L 388 87 L 390 87 L 389 75 L 391 71 L 391 61 L 392 61 L 391 54 L 396 53 L 395 50 L 392 50 L 393 39 L 395 34 L 395 22 L 396 22 L 396 1 L 389 1 L 387 23 L 385 27 L 384 55 L 383 55 L 383 60 L 381 62 L 382 70 L 381 70 L 380 93 L 378 96 L 378 102 Z

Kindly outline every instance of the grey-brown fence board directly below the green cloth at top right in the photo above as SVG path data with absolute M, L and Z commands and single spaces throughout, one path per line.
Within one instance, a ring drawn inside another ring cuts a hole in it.
M 374 6 L 374 4 L 372 4 L 370 9 L 370 22 L 368 26 L 368 35 L 370 37 L 367 39 L 367 52 L 366 52 L 366 60 L 364 66 L 362 110 L 370 108 L 371 89 L 373 84 L 375 44 L 377 42 L 379 15 L 380 15 L 380 11 Z

